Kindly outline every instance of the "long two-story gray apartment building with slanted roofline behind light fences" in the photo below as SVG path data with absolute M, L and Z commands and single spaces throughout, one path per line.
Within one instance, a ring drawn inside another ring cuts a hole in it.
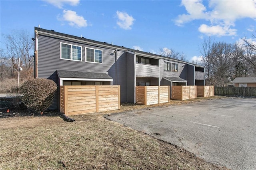
M 205 84 L 200 65 L 37 27 L 35 77 L 58 87 L 120 85 L 121 102 L 129 103 L 135 102 L 136 86 Z M 51 108 L 58 108 L 58 100 Z

